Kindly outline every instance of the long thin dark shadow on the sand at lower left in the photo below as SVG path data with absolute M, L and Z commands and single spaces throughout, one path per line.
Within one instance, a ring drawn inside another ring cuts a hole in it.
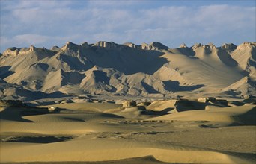
M 1 139 L 4 142 L 52 143 L 73 139 L 71 136 L 16 136 Z

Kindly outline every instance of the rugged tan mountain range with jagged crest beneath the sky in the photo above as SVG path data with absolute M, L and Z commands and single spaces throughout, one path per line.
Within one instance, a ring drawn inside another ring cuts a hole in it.
M 160 42 L 67 42 L 0 54 L 1 99 L 79 95 L 255 96 L 256 42 L 168 48 Z

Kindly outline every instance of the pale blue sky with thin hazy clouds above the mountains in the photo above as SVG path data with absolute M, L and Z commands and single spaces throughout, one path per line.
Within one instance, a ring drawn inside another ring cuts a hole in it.
M 240 45 L 256 40 L 255 0 L 1 0 L 0 51 L 67 41 Z

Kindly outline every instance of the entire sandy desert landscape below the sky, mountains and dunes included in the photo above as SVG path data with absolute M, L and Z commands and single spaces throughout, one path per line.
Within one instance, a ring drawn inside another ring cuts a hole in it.
M 255 163 L 255 42 L 0 56 L 1 163 Z

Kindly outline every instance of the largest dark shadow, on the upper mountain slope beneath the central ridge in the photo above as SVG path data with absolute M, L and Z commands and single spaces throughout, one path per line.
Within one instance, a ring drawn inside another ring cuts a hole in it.
M 113 68 L 125 75 L 132 75 L 143 72 L 152 75 L 165 63 L 168 63 L 162 56 L 161 51 L 142 50 L 136 48 L 103 49 L 91 47 L 81 51 L 81 56 L 95 66 L 102 68 Z

